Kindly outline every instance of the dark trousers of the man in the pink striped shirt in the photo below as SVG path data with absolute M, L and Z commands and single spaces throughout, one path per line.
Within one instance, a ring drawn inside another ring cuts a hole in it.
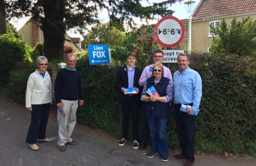
M 140 130 L 140 140 L 147 143 L 147 140 L 149 138 L 149 126 L 148 126 L 147 115 L 145 114 L 145 111 L 144 111 L 144 105 L 142 108 L 141 119 L 142 119 L 142 124 L 141 124 L 141 130 Z

